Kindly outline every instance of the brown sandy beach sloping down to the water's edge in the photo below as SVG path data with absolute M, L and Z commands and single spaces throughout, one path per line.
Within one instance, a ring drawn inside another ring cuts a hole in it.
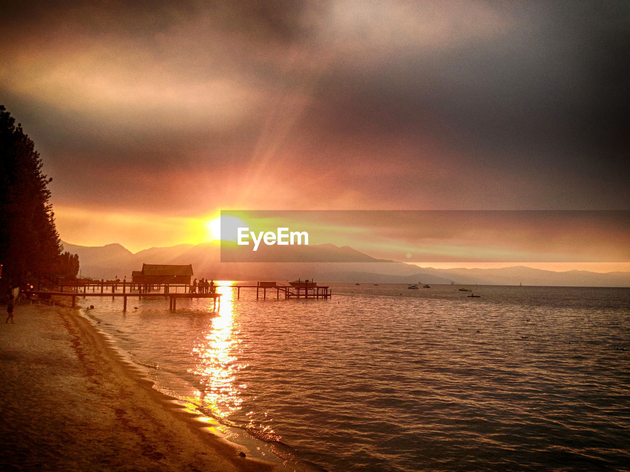
M 273 470 L 152 389 L 77 309 L 17 305 L 0 365 L 4 471 Z

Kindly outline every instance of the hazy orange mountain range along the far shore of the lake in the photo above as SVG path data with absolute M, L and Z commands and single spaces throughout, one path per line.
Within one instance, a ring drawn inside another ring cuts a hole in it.
M 314 261 L 336 262 L 221 262 L 219 242 L 151 247 L 135 254 L 120 244 L 79 246 L 63 242 L 64 250 L 79 255 L 81 276 L 94 279 L 131 279 L 142 264 L 192 264 L 195 277 L 215 280 L 275 280 L 297 278 L 336 282 L 428 283 L 471 285 L 630 286 L 630 273 L 546 271 L 525 266 L 500 269 L 435 269 L 386 261 L 352 247 L 312 245 Z M 304 248 L 302 247 L 303 251 Z M 303 260 L 303 259 L 302 259 Z

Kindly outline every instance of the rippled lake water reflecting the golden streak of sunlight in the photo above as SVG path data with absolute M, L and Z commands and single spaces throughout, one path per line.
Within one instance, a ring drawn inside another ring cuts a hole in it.
M 630 468 L 630 289 L 330 286 L 83 305 L 157 389 L 287 469 Z

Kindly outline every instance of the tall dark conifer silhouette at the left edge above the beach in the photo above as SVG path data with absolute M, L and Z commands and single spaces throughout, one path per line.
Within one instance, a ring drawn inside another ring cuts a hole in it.
M 57 275 L 61 244 L 42 159 L 22 126 L 0 105 L 0 264 L 3 283 Z

